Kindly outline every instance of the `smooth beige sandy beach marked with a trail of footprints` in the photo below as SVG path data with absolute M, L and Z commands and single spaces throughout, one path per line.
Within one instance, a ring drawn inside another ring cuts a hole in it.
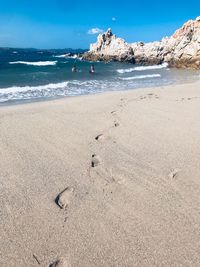
M 200 265 L 199 82 L 1 107 L 0 170 L 1 267 Z

